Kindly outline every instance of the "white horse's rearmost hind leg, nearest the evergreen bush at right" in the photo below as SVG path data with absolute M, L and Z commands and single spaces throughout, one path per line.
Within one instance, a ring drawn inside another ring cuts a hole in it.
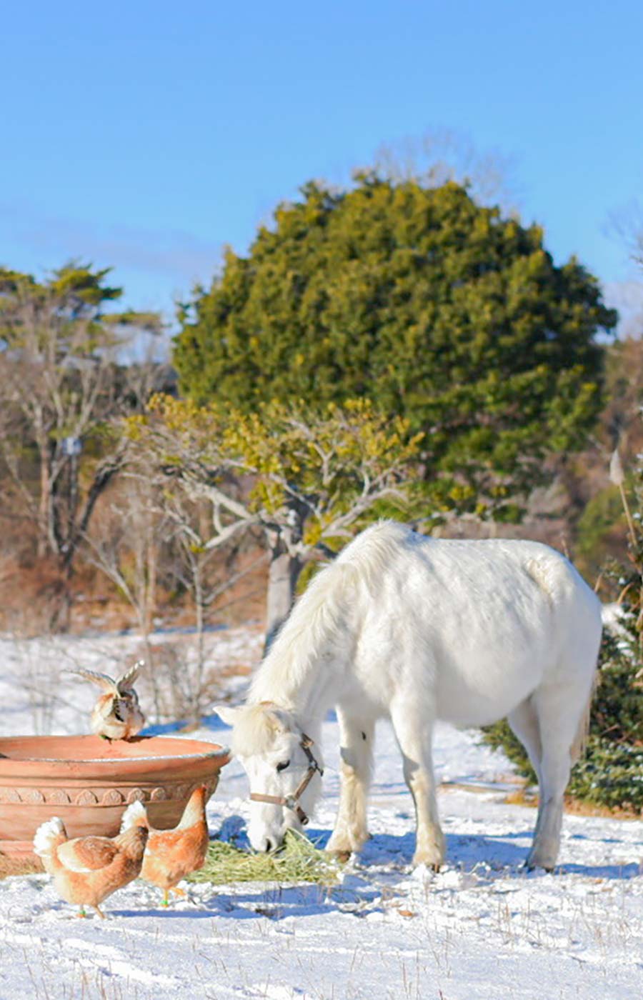
M 586 695 L 587 697 L 587 695 Z M 573 763 L 572 747 L 581 724 L 582 695 L 574 685 L 550 685 L 532 695 L 541 741 L 539 804 L 534 841 L 527 857 L 528 868 L 551 871 L 560 847 L 563 796 Z

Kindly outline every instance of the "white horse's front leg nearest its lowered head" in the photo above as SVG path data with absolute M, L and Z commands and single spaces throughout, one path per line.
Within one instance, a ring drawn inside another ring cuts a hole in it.
M 348 855 L 368 839 L 366 802 L 373 766 L 374 721 L 337 710 L 340 731 L 339 809 L 327 850 Z

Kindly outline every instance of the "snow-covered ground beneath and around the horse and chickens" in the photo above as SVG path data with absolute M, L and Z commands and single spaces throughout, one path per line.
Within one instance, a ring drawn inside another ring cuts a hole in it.
M 240 647 L 243 661 L 242 633 L 212 641 L 220 655 L 226 643 Z M 256 638 L 245 641 L 252 657 Z M 2 643 L 4 733 L 33 731 L 29 699 L 12 680 L 18 662 Z M 59 731 L 65 720 L 77 729 L 81 716 L 61 709 Z M 226 742 L 222 725 L 200 735 Z M 337 804 L 337 739 L 329 719 L 325 796 L 309 831 L 322 843 Z M 191 885 L 164 911 L 158 892 L 136 882 L 106 901 L 101 921 L 73 916 L 46 876 L 0 881 L 0 1000 L 640 1000 L 643 822 L 566 816 L 560 870 L 526 873 L 535 811 L 503 801 L 504 757 L 441 727 L 435 758 L 449 854 L 438 875 L 410 869 L 412 806 L 383 724 L 373 839 L 336 886 Z M 212 833 L 246 819 L 246 795 L 233 761 L 209 805 Z

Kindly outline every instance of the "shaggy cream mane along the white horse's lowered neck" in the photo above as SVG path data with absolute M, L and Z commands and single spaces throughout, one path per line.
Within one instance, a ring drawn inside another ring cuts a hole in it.
M 251 684 L 249 701 L 278 692 L 280 704 L 289 706 L 316 657 L 339 647 L 350 655 L 357 636 L 347 626 L 359 618 L 361 595 L 373 593 L 400 548 L 416 537 L 405 525 L 379 521 L 320 570 L 279 630 Z

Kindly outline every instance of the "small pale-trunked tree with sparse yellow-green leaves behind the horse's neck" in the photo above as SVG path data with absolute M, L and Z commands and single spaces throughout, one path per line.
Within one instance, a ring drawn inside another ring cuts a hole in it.
M 367 401 L 324 413 L 272 403 L 250 416 L 156 397 L 130 433 L 186 495 L 209 504 L 203 551 L 250 528 L 269 553 L 268 646 L 288 615 L 303 567 L 332 557 L 378 505 L 403 504 L 423 435 Z

